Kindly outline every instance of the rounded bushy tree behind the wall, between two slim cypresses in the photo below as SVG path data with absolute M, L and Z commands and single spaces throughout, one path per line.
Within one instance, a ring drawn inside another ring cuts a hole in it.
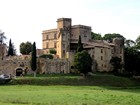
M 32 51 L 32 43 L 31 42 L 22 42 L 20 44 L 20 53 L 23 55 L 28 55 Z

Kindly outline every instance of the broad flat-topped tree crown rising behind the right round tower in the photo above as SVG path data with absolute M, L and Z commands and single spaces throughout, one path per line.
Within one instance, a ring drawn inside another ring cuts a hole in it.
M 124 37 L 122 35 L 116 34 L 116 33 L 113 33 L 113 34 L 105 34 L 104 37 L 103 37 L 103 39 L 104 40 L 107 40 L 108 42 L 112 42 L 113 38 L 124 38 Z

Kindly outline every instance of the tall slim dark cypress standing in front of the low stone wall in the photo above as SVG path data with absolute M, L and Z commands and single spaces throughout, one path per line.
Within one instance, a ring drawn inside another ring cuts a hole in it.
M 37 57 L 36 57 L 36 44 L 33 43 L 32 53 L 31 53 L 31 69 L 34 71 L 34 77 L 36 76 L 36 68 L 37 68 Z

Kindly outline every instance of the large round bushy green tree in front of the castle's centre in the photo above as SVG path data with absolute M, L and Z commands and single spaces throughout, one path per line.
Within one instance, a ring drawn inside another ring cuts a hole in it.
M 74 67 L 86 75 L 91 71 L 92 58 L 87 51 L 83 50 L 82 52 L 77 52 L 74 58 Z

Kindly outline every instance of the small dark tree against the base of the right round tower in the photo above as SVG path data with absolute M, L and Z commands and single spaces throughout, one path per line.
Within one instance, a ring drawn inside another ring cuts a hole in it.
M 115 75 L 119 74 L 119 70 L 122 68 L 121 58 L 112 57 L 110 60 L 111 65 L 113 66 L 113 72 Z

